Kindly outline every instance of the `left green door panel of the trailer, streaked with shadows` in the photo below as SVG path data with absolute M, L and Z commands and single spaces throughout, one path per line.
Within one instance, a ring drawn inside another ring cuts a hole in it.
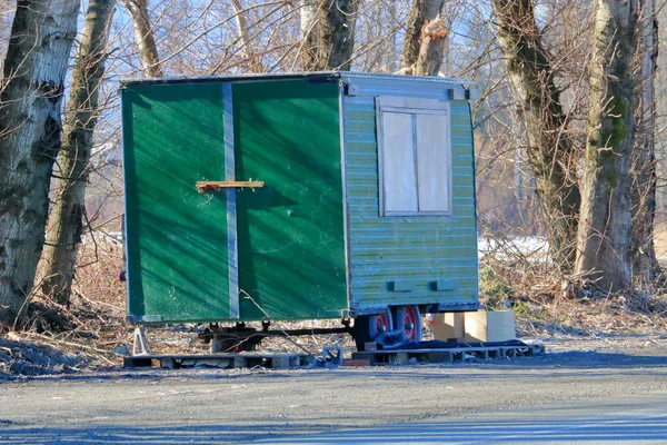
M 221 85 L 126 87 L 122 119 L 129 318 L 238 318 L 227 196 L 196 188 L 225 177 Z

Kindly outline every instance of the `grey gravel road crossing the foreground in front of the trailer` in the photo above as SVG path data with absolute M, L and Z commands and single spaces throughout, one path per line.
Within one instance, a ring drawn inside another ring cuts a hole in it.
M 666 338 L 550 339 L 541 357 L 447 365 L 20 378 L 0 384 L 0 443 L 466 442 L 465 422 L 609 419 L 629 406 L 667 406 Z M 667 443 L 656 409 L 633 416 L 657 424 L 648 443 Z M 624 442 L 641 438 L 631 431 Z M 512 432 L 504 442 L 517 442 Z

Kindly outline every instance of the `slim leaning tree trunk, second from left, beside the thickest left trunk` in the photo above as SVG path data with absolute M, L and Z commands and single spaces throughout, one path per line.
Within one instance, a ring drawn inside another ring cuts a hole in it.
M 69 304 L 83 233 L 88 165 L 115 8 L 116 0 L 89 0 L 62 126 L 62 146 L 56 168 L 56 204 L 49 216 L 42 256 L 42 291 L 62 305 Z

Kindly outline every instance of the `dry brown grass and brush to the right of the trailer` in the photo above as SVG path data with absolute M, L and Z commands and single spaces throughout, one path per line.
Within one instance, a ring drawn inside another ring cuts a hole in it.
M 519 334 L 530 337 L 631 335 L 667 329 L 667 295 L 663 289 L 637 289 L 605 295 L 584 289 L 567 294 L 568 281 L 552 266 L 525 257 L 480 264 L 480 303 L 488 308 L 512 307 Z

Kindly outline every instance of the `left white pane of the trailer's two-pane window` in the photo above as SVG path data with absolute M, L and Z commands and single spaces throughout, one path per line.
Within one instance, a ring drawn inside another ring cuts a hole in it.
M 386 212 L 417 211 L 412 115 L 382 112 L 382 186 Z

